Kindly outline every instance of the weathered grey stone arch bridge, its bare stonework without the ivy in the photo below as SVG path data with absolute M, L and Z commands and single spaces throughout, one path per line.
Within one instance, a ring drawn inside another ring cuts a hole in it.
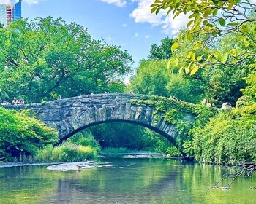
M 92 125 L 104 122 L 129 122 L 148 127 L 176 145 L 178 132 L 175 125 L 166 122 L 161 112 L 156 119 L 154 117 L 156 106 L 138 105 L 131 102 L 134 99 L 145 101 L 149 100 L 150 96 L 135 94 L 80 95 L 47 103 L 6 107 L 30 109 L 37 119 L 50 127 L 57 128 L 61 141 Z M 177 101 L 176 103 L 184 102 Z M 193 116 L 184 111 L 183 119 L 190 121 Z

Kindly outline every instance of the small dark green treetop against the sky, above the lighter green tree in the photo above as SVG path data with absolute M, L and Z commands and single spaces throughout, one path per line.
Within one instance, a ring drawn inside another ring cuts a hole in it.
M 173 44 L 173 39 L 169 39 L 169 37 L 165 37 L 161 40 L 161 44 L 157 46 L 157 44 L 151 44 L 150 47 L 150 55 L 148 59 L 150 60 L 167 60 L 171 57 L 172 52 L 170 47 Z

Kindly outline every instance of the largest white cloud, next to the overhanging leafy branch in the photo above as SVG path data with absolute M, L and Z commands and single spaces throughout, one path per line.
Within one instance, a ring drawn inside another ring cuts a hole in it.
M 151 14 L 150 6 L 154 3 L 154 0 L 132 0 L 132 2 L 138 3 L 138 7 L 130 14 L 136 23 L 151 23 L 152 26 L 162 26 L 162 32 L 165 34 L 177 34 L 189 22 L 188 14 L 180 14 L 175 19 L 173 19 L 172 13 L 166 16 L 164 10 L 160 10 L 157 15 Z

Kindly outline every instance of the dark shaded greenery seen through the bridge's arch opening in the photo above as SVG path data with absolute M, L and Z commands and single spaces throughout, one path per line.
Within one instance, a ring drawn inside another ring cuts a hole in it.
M 169 154 L 170 151 L 173 152 L 167 139 L 138 125 L 111 122 L 90 127 L 89 130 L 93 133 L 94 138 L 99 141 L 104 152 L 112 151 L 109 148 L 115 148 L 116 151 L 123 152 L 123 149 L 118 149 L 119 147 L 124 148 L 125 151 L 144 150 L 165 154 Z

